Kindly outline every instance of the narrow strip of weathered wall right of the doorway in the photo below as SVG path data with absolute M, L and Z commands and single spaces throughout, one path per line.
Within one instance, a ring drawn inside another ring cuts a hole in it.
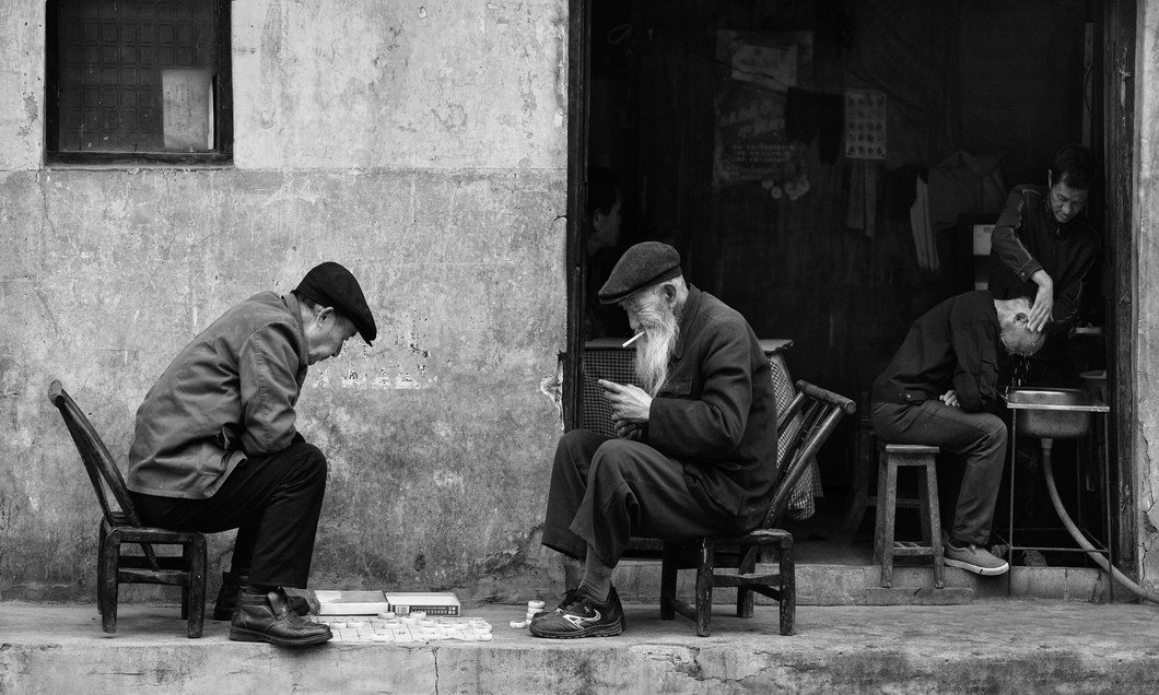
M 1138 334 L 1138 556 L 1144 584 L 1159 588 L 1159 6 L 1140 2 L 1136 41 L 1135 156 Z

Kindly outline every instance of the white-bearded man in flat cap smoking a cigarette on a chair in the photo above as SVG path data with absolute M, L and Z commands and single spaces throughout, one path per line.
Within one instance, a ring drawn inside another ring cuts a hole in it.
M 612 570 L 632 535 L 679 542 L 755 528 L 777 483 L 768 360 L 749 323 L 685 283 L 672 247 L 629 248 L 599 291 L 628 314 L 644 388 L 602 381 L 618 437 L 560 439 L 544 544 L 583 563 L 578 587 L 531 623 L 537 637 L 624 630 Z

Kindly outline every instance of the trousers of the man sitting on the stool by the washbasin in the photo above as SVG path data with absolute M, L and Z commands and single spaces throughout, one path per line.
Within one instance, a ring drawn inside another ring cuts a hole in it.
M 1006 464 L 1006 423 L 989 412 L 965 412 L 941 401 L 918 405 L 874 403 L 870 422 L 889 444 L 924 444 L 965 459 L 950 536 L 984 546 Z

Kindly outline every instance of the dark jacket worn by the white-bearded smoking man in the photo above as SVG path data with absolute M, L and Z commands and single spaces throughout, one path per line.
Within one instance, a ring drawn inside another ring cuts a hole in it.
M 757 526 L 777 484 L 777 403 L 768 360 L 735 309 L 688 286 L 668 381 L 647 442 L 680 461 L 701 502 Z

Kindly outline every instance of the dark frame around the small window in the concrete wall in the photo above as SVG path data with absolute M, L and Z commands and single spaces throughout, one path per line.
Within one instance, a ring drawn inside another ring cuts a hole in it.
M 178 164 L 220 167 L 233 163 L 232 0 L 213 0 L 217 75 L 213 79 L 213 149 L 206 152 L 79 152 L 60 149 L 60 45 L 58 5 L 45 0 L 44 164 Z M 165 0 L 158 0 L 165 1 Z M 170 0 L 172 1 L 172 0 Z M 180 0 L 177 0 L 180 1 Z

